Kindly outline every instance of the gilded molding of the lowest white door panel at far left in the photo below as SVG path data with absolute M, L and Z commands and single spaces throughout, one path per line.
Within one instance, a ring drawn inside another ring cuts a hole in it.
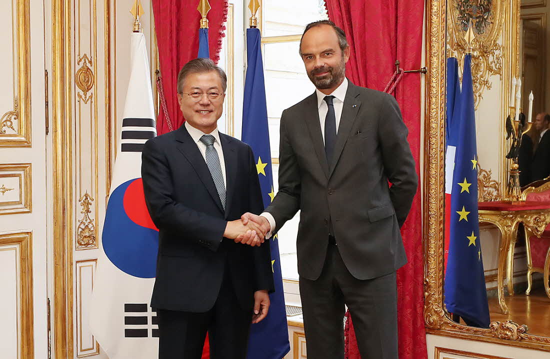
M 4 248 L 3 248 L 4 247 Z M 14 249 L 15 247 L 15 249 Z M 34 306 L 32 297 L 32 232 L 0 233 L 0 251 L 15 250 L 19 268 L 20 358 L 34 358 Z

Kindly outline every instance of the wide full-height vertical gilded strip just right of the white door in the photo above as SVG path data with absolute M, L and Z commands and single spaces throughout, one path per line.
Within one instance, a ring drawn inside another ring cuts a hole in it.
M 71 0 L 52 0 L 53 324 L 56 359 L 74 357 Z

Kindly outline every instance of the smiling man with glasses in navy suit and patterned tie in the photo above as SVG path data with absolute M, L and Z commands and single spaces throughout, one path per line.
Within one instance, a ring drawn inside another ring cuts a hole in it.
M 178 76 L 186 122 L 147 141 L 142 155 L 160 232 L 151 307 L 161 359 L 199 359 L 207 332 L 212 359 L 244 359 L 250 324 L 266 317 L 274 290 L 269 244 L 240 220 L 263 210 L 252 150 L 217 129 L 226 87 L 212 60 L 187 63 Z M 234 242 L 247 232 L 250 240 Z

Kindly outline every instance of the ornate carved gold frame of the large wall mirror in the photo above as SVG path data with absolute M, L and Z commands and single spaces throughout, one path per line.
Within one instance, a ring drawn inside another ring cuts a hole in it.
M 511 6 L 511 14 L 519 13 L 519 2 L 513 2 Z M 507 321 L 492 322 L 488 329 L 467 327 L 450 320 L 443 308 L 446 7 L 447 4 L 443 0 L 430 0 L 426 7 L 428 76 L 423 195 L 426 332 L 550 351 L 550 338 L 529 334 L 525 325 Z

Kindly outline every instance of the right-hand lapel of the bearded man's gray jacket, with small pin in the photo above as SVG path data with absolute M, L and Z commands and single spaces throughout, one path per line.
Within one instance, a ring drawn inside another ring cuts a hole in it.
M 361 102 L 357 99 L 359 91 L 357 86 L 348 81 L 348 91 L 344 98 L 344 107 L 342 108 L 342 116 L 340 116 L 340 124 L 338 125 L 338 135 L 336 136 L 336 144 L 334 145 L 334 153 L 332 154 L 331 167 L 329 168 L 328 177 L 334 172 L 334 168 L 338 163 L 340 154 L 344 149 L 346 141 L 348 141 L 349 131 L 355 123 L 357 113 L 361 107 Z

